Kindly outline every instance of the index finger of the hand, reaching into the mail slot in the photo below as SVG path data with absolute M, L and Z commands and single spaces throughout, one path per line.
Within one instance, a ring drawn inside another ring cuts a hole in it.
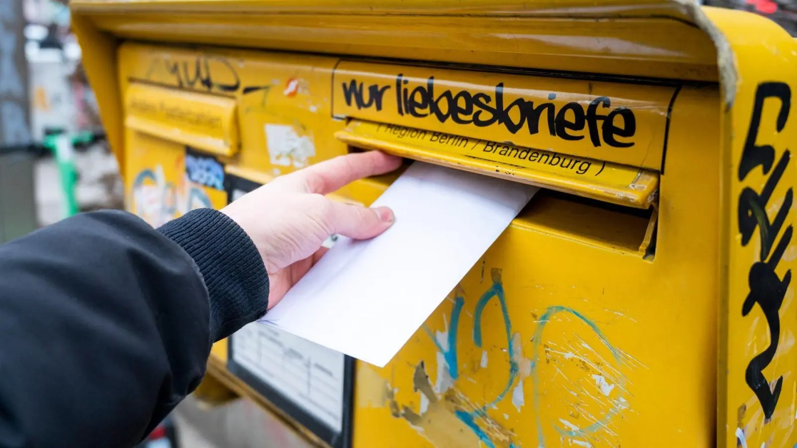
M 288 176 L 296 176 L 296 182 L 308 193 L 328 195 L 355 180 L 383 175 L 400 165 L 401 158 L 395 155 L 380 151 L 355 152 L 316 163 Z

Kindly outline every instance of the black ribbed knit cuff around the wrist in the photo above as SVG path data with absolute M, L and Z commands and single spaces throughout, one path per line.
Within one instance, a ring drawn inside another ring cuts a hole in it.
M 252 238 L 226 214 L 192 210 L 158 230 L 183 247 L 204 277 L 211 340 L 222 340 L 265 314 L 269 276 L 263 258 Z

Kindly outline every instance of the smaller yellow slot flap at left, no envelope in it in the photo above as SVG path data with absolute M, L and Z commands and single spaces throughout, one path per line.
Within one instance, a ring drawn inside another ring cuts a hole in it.
M 240 146 L 232 98 L 131 84 L 125 112 L 125 125 L 135 131 L 228 157 Z

